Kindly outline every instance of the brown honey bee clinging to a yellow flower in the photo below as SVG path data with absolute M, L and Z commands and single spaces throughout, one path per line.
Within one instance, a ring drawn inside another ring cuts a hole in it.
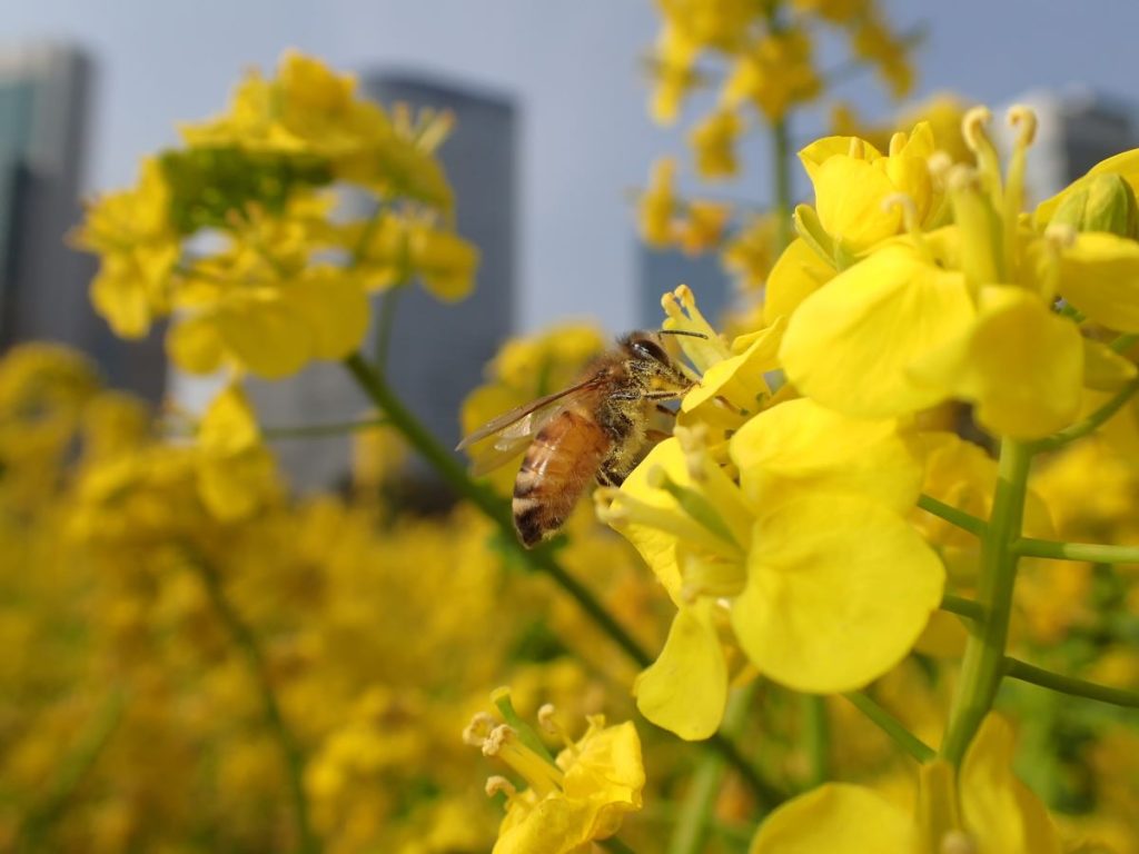
M 590 481 L 620 486 L 656 441 L 653 429 L 662 405 L 694 381 L 669 355 L 662 335 L 698 332 L 666 329 L 630 332 L 596 359 L 582 378 L 560 392 L 514 409 L 472 433 L 456 450 L 494 436 L 475 460 L 486 474 L 528 443 L 514 483 L 514 527 L 527 549 L 554 536 Z

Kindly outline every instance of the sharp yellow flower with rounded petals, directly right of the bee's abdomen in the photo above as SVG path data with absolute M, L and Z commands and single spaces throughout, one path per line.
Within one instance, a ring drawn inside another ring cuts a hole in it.
M 898 422 L 769 401 L 763 372 L 776 366 L 779 325 L 744 336 L 736 353 L 686 288 L 664 304 L 665 328 L 705 336 L 679 339 L 704 373 L 682 403 L 691 426 L 598 500 L 678 608 L 661 657 L 637 682 L 638 707 L 704 738 L 727 698 L 722 625 L 772 680 L 849 690 L 909 651 L 940 601 L 943 570 L 903 518 L 921 462 Z M 708 424 L 726 424 L 718 409 L 736 420 L 730 441 L 711 446 Z

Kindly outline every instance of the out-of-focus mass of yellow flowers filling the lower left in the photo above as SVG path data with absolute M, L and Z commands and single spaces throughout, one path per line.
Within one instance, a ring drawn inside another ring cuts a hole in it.
M 304 844 L 296 785 L 327 851 L 474 854 L 495 806 L 468 786 L 458 733 L 503 675 L 527 715 L 632 711 L 628 666 L 509 573 L 468 508 L 289 498 L 237 387 L 192 437 L 162 426 L 71 351 L 0 360 L 0 847 L 288 851 Z M 395 443 L 368 442 L 388 449 L 375 487 L 398 476 Z M 595 532 L 567 552 L 654 625 L 630 550 Z M 534 618 L 489 632 L 503 610 Z M 639 761 L 631 724 L 591 720 L 571 793 L 609 748 Z M 615 830 L 598 808 L 597 832 Z

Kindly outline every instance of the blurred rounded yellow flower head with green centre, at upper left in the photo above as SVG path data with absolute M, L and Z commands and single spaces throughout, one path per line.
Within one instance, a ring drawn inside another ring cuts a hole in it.
M 90 206 L 74 239 L 101 261 L 96 310 L 126 338 L 172 315 L 182 370 L 278 378 L 355 351 L 370 293 L 419 279 L 462 298 L 478 253 L 452 230 L 433 156 L 449 128 L 390 115 L 353 79 L 286 54 L 274 79 L 252 73 L 224 115 L 185 125 L 185 147 Z M 334 216 L 345 189 L 372 212 Z

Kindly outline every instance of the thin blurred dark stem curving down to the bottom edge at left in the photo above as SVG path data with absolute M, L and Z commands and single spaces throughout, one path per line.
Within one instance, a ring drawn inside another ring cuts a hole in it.
M 317 854 L 320 851 L 320 841 L 313 832 L 309 820 L 309 799 L 304 791 L 304 756 L 301 753 L 301 746 L 297 744 L 296 737 L 288 728 L 288 724 L 285 723 L 280 704 L 277 701 L 277 693 L 269 679 L 265 656 L 261 651 L 261 646 L 253 630 L 241 619 L 233 605 L 226 597 L 221 578 L 218 577 L 213 567 L 195 559 L 191 559 L 189 563 L 202 580 L 214 611 L 226 625 L 238 649 L 245 656 L 246 666 L 256 683 L 257 693 L 261 697 L 261 705 L 265 715 L 265 723 L 285 762 L 289 798 L 293 802 L 293 822 L 296 827 L 297 849 L 302 854 Z

